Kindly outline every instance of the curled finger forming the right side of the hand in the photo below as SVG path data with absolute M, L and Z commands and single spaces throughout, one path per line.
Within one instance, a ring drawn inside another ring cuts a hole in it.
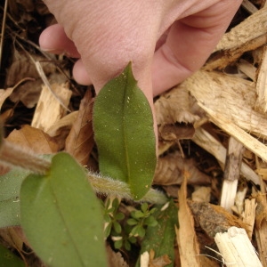
M 220 1 L 174 22 L 152 63 L 154 95 L 179 84 L 205 63 L 241 2 Z

